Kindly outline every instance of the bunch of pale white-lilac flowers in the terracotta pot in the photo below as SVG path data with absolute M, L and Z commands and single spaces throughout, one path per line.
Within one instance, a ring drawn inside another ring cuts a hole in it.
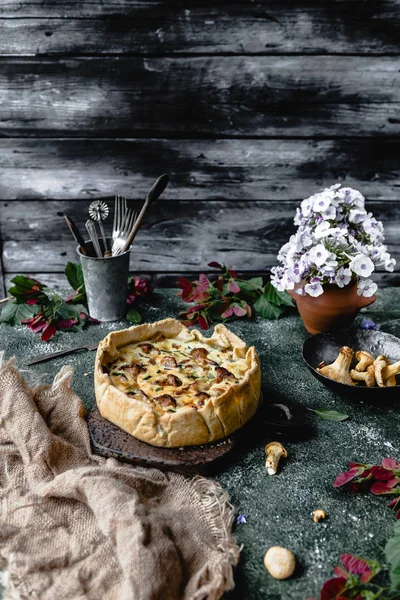
M 384 245 L 383 225 L 365 210 L 359 191 L 340 183 L 303 200 L 296 210 L 297 232 L 282 246 L 280 265 L 271 269 L 278 291 L 320 296 L 325 284 L 357 283 L 357 293 L 373 296 L 369 279 L 376 267 L 393 271 L 396 261 Z

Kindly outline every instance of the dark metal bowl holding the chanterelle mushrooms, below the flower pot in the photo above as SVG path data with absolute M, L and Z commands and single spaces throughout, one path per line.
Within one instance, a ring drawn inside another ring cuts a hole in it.
M 339 329 L 334 332 L 323 331 L 313 335 L 305 341 L 303 346 L 303 358 L 311 373 L 319 379 L 324 385 L 332 388 L 342 396 L 354 397 L 357 399 L 365 398 L 368 400 L 386 400 L 400 399 L 400 385 L 396 387 L 368 388 L 364 385 L 352 386 L 346 383 L 333 381 L 321 373 L 316 368 L 323 360 L 326 365 L 334 362 L 342 346 L 349 346 L 354 351 L 367 350 L 375 358 L 379 354 L 386 356 L 391 363 L 400 360 L 400 339 L 384 333 L 383 331 L 365 331 L 364 329 Z M 356 360 L 352 364 L 354 368 Z M 397 378 L 398 383 L 399 377 Z

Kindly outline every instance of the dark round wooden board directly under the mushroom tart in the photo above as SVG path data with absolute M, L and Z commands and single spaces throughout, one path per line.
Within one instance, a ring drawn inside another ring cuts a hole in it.
M 90 441 L 95 454 L 123 462 L 177 471 L 201 471 L 223 458 L 234 447 L 234 437 L 204 446 L 159 448 L 132 437 L 94 407 L 87 417 Z

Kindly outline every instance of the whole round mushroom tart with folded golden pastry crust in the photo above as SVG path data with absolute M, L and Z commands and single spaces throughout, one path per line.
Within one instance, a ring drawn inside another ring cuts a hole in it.
M 222 324 L 206 338 L 176 319 L 110 333 L 94 380 L 104 418 L 167 448 L 227 437 L 254 415 L 261 388 L 254 346 Z

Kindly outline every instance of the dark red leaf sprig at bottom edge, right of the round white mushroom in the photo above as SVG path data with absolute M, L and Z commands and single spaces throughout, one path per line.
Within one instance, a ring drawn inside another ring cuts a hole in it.
M 381 598 L 382 593 L 389 588 L 383 588 L 372 579 L 381 571 L 378 561 L 366 560 L 352 554 L 342 554 L 342 566 L 333 569 L 336 577 L 325 581 L 319 600 L 365 600 L 366 598 Z M 394 596 L 391 596 L 394 598 Z M 308 600 L 316 600 L 309 598 Z M 382 597 L 383 600 L 383 597 Z

